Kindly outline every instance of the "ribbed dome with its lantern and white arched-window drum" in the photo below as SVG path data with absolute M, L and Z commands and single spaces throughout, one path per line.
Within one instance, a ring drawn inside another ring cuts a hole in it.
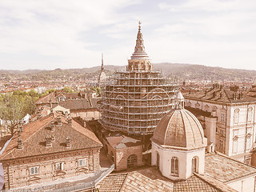
M 183 180 L 193 172 L 203 174 L 207 139 L 198 119 L 184 109 L 181 92 L 176 95 L 175 109 L 158 122 L 151 141 L 152 165 L 165 177 Z

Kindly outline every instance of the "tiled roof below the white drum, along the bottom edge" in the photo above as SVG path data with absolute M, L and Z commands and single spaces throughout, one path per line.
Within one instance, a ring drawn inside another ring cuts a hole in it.
M 164 178 L 156 167 L 142 168 L 122 174 L 110 174 L 97 186 L 100 192 L 110 191 L 158 191 L 158 192 L 194 192 L 218 191 L 234 192 L 222 182 L 208 176 L 194 174 L 186 181 L 173 182 Z

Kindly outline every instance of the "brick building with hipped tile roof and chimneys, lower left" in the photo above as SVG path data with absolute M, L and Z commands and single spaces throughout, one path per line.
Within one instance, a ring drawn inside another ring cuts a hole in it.
M 3 151 L 5 189 L 78 181 L 101 171 L 102 143 L 69 116 L 51 113 L 19 128 Z M 67 179 L 66 181 L 68 181 Z M 65 185 L 63 185 L 65 186 Z

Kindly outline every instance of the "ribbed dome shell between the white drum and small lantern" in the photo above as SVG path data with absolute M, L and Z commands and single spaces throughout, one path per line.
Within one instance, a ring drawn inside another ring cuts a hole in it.
M 154 130 L 153 142 L 158 145 L 188 149 L 206 146 L 202 126 L 198 119 L 185 109 L 171 110 Z

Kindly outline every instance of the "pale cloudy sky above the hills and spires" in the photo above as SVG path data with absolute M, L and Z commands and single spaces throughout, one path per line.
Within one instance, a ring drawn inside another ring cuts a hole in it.
M 0 70 L 151 62 L 256 70 L 255 0 L 0 0 Z

